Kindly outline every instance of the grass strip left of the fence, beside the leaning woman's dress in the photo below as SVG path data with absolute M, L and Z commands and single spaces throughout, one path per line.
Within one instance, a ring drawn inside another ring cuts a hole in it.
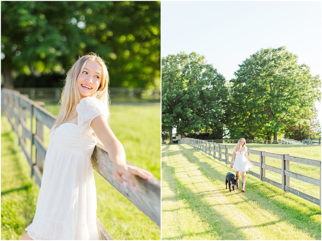
M 39 187 L 18 146 L 17 135 L 1 116 L 1 239 L 19 239 L 32 222 Z

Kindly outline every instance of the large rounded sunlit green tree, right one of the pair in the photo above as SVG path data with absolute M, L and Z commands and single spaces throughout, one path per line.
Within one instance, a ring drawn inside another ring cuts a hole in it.
M 230 82 L 229 129 L 232 138 L 277 140 L 287 126 L 316 115 L 319 76 L 298 57 L 279 48 L 261 49 L 239 65 Z

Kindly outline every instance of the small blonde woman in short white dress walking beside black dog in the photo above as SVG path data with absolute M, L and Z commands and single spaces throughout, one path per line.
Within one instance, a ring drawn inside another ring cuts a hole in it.
M 232 165 L 232 162 L 234 162 L 234 165 Z M 246 171 L 248 171 L 253 165 L 254 163 L 251 162 L 247 153 L 246 140 L 245 138 L 241 138 L 233 148 L 230 168 L 236 171 L 237 189 L 239 189 L 239 172 L 242 172 L 242 192 L 245 191 Z

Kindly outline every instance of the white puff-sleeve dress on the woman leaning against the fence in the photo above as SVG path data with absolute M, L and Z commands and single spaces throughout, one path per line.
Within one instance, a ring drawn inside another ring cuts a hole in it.
M 90 157 L 97 139 L 91 121 L 109 115 L 95 97 L 76 106 L 78 124 L 51 132 L 33 222 L 25 229 L 34 240 L 97 240 L 96 187 Z

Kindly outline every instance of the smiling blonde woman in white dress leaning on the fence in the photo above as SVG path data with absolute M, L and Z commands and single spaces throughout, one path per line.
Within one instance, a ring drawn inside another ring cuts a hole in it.
M 131 175 L 152 176 L 126 164 L 124 148 L 108 125 L 108 83 L 107 67 L 94 53 L 80 57 L 67 72 L 35 216 L 21 239 L 99 239 L 90 160 L 98 139 L 108 151 L 113 175 L 120 183 L 128 185 L 124 175 L 135 191 Z

